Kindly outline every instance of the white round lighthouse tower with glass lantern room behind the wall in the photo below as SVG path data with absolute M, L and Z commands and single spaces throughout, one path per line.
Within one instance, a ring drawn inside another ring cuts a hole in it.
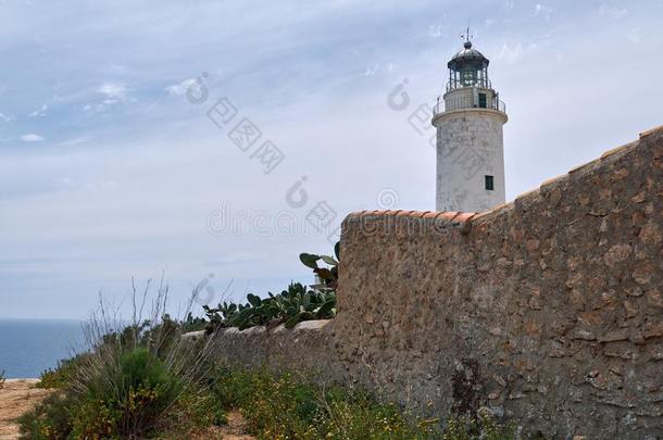
M 488 59 L 472 47 L 447 64 L 447 91 L 435 106 L 437 211 L 484 212 L 504 203 L 504 103 L 488 79 Z

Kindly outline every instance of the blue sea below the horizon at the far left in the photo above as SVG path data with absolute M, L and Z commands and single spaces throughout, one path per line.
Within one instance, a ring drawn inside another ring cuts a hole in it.
M 83 345 L 83 322 L 0 319 L 0 373 L 7 378 L 36 378 Z

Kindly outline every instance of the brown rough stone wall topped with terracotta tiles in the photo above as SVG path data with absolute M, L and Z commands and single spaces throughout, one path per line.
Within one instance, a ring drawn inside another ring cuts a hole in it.
M 663 128 L 485 214 L 363 212 L 338 315 L 222 359 L 491 411 L 552 438 L 663 438 Z

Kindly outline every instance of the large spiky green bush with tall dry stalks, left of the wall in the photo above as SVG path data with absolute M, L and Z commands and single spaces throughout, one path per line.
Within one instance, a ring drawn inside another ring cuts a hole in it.
M 41 375 L 42 387 L 60 391 L 21 418 L 25 437 L 152 438 L 223 420 L 201 386 L 210 340 L 182 338 L 187 324 L 165 313 L 166 292 L 128 326 L 102 304 L 85 329 L 89 351 Z

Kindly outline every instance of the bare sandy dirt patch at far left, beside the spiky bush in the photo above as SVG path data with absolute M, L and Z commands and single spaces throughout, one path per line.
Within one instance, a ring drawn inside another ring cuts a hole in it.
M 16 417 L 29 411 L 51 391 L 34 388 L 37 379 L 7 379 L 0 389 L 0 440 L 17 439 Z

